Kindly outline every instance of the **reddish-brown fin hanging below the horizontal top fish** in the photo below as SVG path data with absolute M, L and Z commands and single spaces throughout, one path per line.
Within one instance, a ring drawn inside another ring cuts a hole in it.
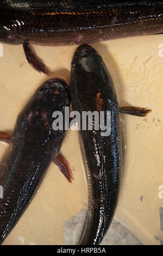
M 27 61 L 39 72 L 43 72 L 46 75 L 52 74 L 52 71 L 47 68 L 43 63 L 42 59 L 37 56 L 32 46 L 30 46 L 28 41 L 23 42 L 24 53 L 26 54 Z

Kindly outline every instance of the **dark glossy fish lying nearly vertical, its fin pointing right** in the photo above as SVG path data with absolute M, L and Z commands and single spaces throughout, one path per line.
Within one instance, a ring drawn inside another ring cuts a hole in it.
M 152 110 L 135 106 L 120 107 L 114 82 L 102 57 L 95 48 L 86 44 L 80 45 L 72 58 L 70 95 L 72 111 L 80 113 L 78 134 L 88 187 L 87 217 L 79 245 L 99 245 L 114 216 L 122 182 L 123 134 L 120 113 L 145 117 Z M 88 120 L 86 125 L 83 119 L 85 112 Z M 105 126 L 101 125 L 101 120 Z M 107 120 L 109 132 L 106 134 Z M 86 129 L 83 129 L 83 125 Z

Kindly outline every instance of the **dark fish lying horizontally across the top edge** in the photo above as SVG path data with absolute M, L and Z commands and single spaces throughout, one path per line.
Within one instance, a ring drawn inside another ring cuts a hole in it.
M 163 33 L 161 1 L 1 0 L 0 42 L 22 44 L 28 63 L 51 70 L 33 44 L 90 44 L 128 36 Z

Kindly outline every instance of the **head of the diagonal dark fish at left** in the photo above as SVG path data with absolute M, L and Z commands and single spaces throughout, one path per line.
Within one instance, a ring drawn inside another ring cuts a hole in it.
M 63 122 L 65 120 L 65 107 L 69 106 L 70 92 L 66 82 L 61 78 L 47 80 L 36 90 L 18 116 L 17 127 L 23 132 L 26 130 L 31 134 L 40 133 L 40 136 L 60 133 L 60 131 L 53 129 L 53 121 L 59 115 L 61 117 L 59 120 Z

